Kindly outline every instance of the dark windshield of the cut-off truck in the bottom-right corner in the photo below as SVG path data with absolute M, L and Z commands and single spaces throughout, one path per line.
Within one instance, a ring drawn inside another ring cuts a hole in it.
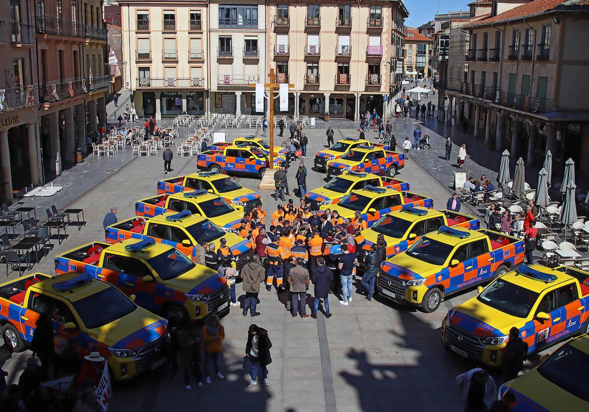
M 538 373 L 568 393 L 589 402 L 587 368 L 589 354 L 568 344 L 542 363 L 538 367 Z

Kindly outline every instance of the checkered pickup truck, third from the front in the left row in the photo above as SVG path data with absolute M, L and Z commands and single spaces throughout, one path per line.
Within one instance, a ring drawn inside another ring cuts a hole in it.
M 252 259 L 252 242 L 233 233 L 227 233 L 209 219 L 193 215 L 190 211 L 166 212 L 153 218 L 134 217 L 107 227 L 108 244 L 127 239 L 153 238 L 183 252 L 196 262 L 196 245 L 201 241 L 214 243 L 218 250 L 221 239 L 226 241 L 233 256 L 232 265 L 238 271 Z

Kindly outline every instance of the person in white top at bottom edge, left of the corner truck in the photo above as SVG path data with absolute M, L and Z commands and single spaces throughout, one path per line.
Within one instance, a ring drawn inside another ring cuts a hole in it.
M 456 385 L 468 412 L 487 411 L 497 399 L 497 386 L 487 371 L 474 368 L 456 376 Z

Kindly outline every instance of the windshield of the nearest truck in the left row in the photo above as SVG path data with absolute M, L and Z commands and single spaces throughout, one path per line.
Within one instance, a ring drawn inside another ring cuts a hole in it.
M 137 308 L 128 297 L 112 286 L 74 301 L 72 305 L 84 325 L 89 329 L 100 328 L 114 322 Z

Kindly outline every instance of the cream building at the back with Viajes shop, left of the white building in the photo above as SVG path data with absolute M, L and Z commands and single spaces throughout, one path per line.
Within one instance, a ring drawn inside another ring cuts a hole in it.
M 207 2 L 120 0 L 125 88 L 139 117 L 210 112 Z

